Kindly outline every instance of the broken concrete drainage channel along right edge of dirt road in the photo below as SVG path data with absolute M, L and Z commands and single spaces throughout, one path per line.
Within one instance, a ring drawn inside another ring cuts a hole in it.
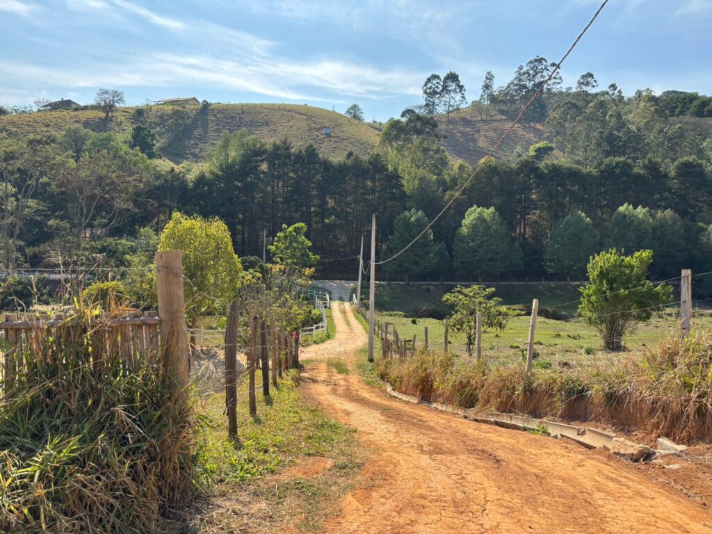
M 443 412 L 459 415 L 465 419 L 479 423 L 496 424 L 506 429 L 525 430 L 542 432 L 554 438 L 570 439 L 577 444 L 585 446 L 587 449 L 607 449 L 620 459 L 626 461 L 651 461 L 656 456 L 667 454 L 681 455 L 687 447 L 678 445 L 666 438 L 659 438 L 657 449 L 649 446 L 637 444 L 624 438 L 620 438 L 610 432 L 588 428 L 587 426 L 573 426 L 571 424 L 547 421 L 545 419 L 535 419 L 533 417 L 501 414 L 499 412 L 476 412 L 473 409 L 450 406 L 439 402 L 428 402 L 417 397 L 412 397 L 396 391 L 390 384 L 386 384 L 386 391 L 392 397 L 397 397 L 413 404 L 423 404 Z M 679 468 L 679 466 L 666 466 L 667 468 Z

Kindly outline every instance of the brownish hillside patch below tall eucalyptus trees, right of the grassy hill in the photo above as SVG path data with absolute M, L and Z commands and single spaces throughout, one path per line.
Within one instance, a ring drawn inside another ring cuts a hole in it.
M 443 144 L 450 155 L 468 163 L 476 163 L 485 157 L 499 138 L 507 131 L 512 121 L 490 112 L 487 120 L 479 108 L 464 108 L 450 114 L 450 122 L 439 117 L 439 130 L 445 135 Z M 544 126 L 538 122 L 521 122 L 502 143 L 495 157 L 509 159 L 518 148 L 528 150 L 540 142 Z

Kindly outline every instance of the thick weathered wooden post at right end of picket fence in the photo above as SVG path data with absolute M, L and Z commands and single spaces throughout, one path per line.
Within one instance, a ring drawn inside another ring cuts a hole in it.
M 157 252 L 155 259 L 162 365 L 174 382 L 179 397 L 187 402 L 190 360 L 188 329 L 185 323 L 182 252 Z

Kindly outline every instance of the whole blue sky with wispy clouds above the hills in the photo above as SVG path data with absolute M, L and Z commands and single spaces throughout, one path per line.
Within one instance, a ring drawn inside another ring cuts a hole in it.
M 455 70 L 468 99 L 560 58 L 600 0 L 0 0 L 0 103 L 359 103 L 387 120 Z M 601 86 L 712 93 L 712 0 L 611 0 L 563 68 Z

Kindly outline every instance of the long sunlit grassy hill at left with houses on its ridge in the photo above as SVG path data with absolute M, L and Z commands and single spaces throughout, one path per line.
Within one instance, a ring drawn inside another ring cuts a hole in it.
M 219 140 L 224 130 L 247 130 L 269 140 L 286 138 L 296 147 L 312 143 L 322 155 L 345 157 L 348 152 L 368 155 L 378 142 L 369 125 L 322 108 L 292 104 L 214 104 L 200 106 L 150 105 L 120 108 L 106 122 L 98 110 L 57 110 L 0 117 L 0 136 L 61 134 L 71 125 L 95 132 L 129 133 L 137 123 L 157 132 L 164 157 L 174 163 L 199 161 Z M 324 128 L 329 127 L 330 135 Z

